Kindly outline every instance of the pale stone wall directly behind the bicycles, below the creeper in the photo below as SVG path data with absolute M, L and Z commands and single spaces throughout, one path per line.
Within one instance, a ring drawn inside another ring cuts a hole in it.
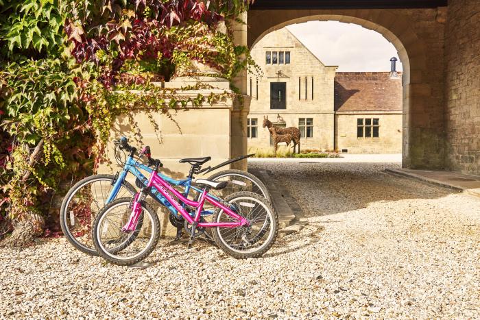
M 165 86 L 176 86 L 178 84 L 165 84 Z M 181 86 L 181 85 L 179 85 Z M 211 92 L 223 93 L 223 90 L 189 90 L 183 91 L 183 95 L 197 97 L 197 94 L 208 95 Z M 245 136 L 246 133 L 246 115 L 248 114 L 248 97 L 243 99 L 244 105 L 239 106 L 238 101 L 224 99 L 215 105 L 206 105 L 201 108 L 187 108 L 181 110 L 170 110 L 169 114 L 161 112 L 152 112 L 151 118 L 143 110 L 135 110 L 128 115 L 117 117 L 110 136 L 117 138 L 126 136 L 131 145 L 141 148 L 149 145 L 152 149 L 152 157 L 160 159 L 164 167 L 160 172 L 176 179 L 183 179 L 189 173 L 191 166 L 189 164 L 179 163 L 182 158 L 200 158 L 211 156 L 212 160 L 206 162 L 204 167 L 214 167 L 215 165 L 232 158 L 232 149 L 240 149 L 243 152 L 243 145 L 233 145 L 235 138 Z M 153 123 L 152 123 L 153 122 Z M 243 128 L 243 129 L 239 129 Z M 136 130 L 139 130 L 138 132 Z M 245 138 L 243 138 L 245 140 Z M 99 167 L 99 173 L 114 174 L 121 168 L 115 163 L 114 145 L 109 143 L 107 146 L 108 158 L 113 162 L 111 166 L 102 164 Z M 244 161 L 245 162 L 245 161 Z M 234 165 L 222 167 L 221 170 L 233 168 Z M 244 164 L 237 164 L 237 168 L 243 169 Z M 212 175 L 217 172 L 208 173 Z M 148 176 L 147 173 L 144 173 Z M 127 179 L 134 184 L 134 177 L 128 176 Z M 154 201 L 152 206 L 158 210 L 162 234 L 173 236 L 174 228 L 168 222 L 168 210 Z

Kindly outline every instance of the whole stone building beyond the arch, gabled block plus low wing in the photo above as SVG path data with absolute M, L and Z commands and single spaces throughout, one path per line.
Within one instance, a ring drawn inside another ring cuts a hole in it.
M 286 28 L 267 34 L 251 53 L 263 76 L 248 75 L 250 151 L 271 147 L 262 127 L 268 116 L 278 127 L 298 127 L 302 149 L 401 153 L 401 75 L 336 73 Z

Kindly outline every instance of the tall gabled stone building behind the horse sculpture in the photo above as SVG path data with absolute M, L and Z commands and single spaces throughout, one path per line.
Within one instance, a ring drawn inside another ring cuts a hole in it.
M 278 127 L 300 127 L 303 149 L 333 149 L 337 66 L 322 64 L 286 28 L 267 34 L 251 54 L 263 75 L 248 75 L 248 147 L 269 148 L 269 132 L 262 128 L 268 116 Z

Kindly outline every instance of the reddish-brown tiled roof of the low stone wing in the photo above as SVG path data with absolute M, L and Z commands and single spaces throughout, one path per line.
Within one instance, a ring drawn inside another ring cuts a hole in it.
M 402 79 L 389 72 L 339 72 L 335 75 L 335 111 L 401 111 Z

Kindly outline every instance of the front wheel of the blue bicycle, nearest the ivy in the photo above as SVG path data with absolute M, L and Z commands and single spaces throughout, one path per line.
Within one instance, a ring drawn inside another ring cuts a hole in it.
M 76 249 L 90 256 L 98 256 L 93 245 L 93 220 L 105 206 L 115 175 L 91 175 L 75 184 L 64 197 L 60 208 L 60 226 L 63 234 Z M 117 197 L 132 197 L 136 190 L 123 181 Z

